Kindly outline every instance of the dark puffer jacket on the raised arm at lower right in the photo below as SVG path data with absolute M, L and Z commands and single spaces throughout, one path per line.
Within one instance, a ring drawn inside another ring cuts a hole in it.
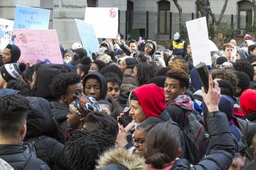
M 210 152 L 198 164 L 190 167 L 186 159 L 175 161 L 171 170 L 223 170 L 228 169 L 234 157 L 234 145 L 225 113 L 208 113 L 206 120 L 210 136 Z

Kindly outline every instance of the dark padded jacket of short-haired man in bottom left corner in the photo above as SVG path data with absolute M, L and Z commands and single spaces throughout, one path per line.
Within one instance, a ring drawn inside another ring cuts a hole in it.
M 24 152 L 24 148 L 21 143 L 0 144 L 0 158 L 5 160 L 15 169 L 23 170 L 27 165 L 30 157 L 30 154 Z M 46 163 L 44 163 L 40 159 L 39 161 L 41 162 L 40 170 L 50 170 Z M 35 160 L 33 160 L 33 164 L 35 164 L 35 166 L 37 165 Z

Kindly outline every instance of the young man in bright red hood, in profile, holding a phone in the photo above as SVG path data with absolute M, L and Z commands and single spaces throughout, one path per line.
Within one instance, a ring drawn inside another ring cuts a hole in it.
M 164 122 L 173 122 L 168 112 L 165 110 L 165 92 L 163 88 L 157 87 L 157 85 L 155 85 L 154 83 L 142 85 L 141 87 L 135 88 L 131 92 L 129 100 L 130 107 L 132 107 L 130 110 L 130 114 L 132 115 L 132 119 L 135 122 L 135 127 L 137 127 L 139 123 L 143 122 L 149 117 L 158 117 Z M 180 158 L 187 158 L 187 149 L 183 133 L 180 128 L 176 128 L 179 132 L 179 136 L 181 139 L 182 152 Z M 122 130 L 123 127 L 121 127 L 121 131 Z M 127 142 L 129 143 L 129 141 Z

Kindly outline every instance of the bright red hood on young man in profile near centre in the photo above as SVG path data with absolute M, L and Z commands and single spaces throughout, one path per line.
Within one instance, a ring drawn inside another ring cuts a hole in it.
M 158 117 L 165 109 L 165 92 L 154 83 L 135 88 L 134 93 L 147 117 Z

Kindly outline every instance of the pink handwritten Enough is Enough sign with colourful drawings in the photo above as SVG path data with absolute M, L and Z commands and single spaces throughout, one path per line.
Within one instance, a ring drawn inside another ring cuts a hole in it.
M 13 29 L 13 35 L 21 51 L 20 62 L 63 64 L 55 29 Z

